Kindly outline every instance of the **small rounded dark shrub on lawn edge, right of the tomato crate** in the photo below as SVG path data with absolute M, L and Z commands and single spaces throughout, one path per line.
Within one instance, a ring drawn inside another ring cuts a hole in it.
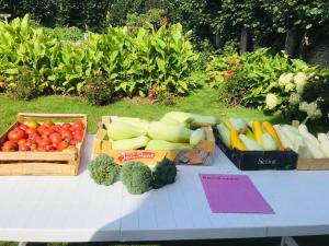
M 83 96 L 92 105 L 103 106 L 113 98 L 114 84 L 102 75 L 88 78 L 83 86 Z

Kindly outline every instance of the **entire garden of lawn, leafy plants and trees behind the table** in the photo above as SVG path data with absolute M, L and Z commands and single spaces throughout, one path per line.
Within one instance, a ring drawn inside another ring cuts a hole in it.
M 0 0 L 0 13 L 1 130 L 16 112 L 90 113 L 93 132 L 102 114 L 173 109 L 328 128 L 325 0 Z

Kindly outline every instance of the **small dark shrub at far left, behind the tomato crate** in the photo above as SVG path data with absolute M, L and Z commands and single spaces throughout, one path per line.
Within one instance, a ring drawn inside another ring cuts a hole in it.
M 11 78 L 7 93 L 14 99 L 33 99 L 39 94 L 38 80 L 33 70 L 20 68 L 19 73 Z

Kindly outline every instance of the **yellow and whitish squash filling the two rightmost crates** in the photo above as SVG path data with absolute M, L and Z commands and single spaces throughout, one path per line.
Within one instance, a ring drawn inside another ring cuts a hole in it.
M 329 157 L 329 137 L 311 134 L 306 125 L 298 127 L 231 118 L 217 125 L 219 138 L 230 149 L 240 151 L 293 150 L 306 159 Z

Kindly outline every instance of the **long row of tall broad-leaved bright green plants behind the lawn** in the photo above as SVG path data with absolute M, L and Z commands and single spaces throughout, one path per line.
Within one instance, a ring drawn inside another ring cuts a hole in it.
M 84 81 L 101 71 L 123 96 L 148 95 L 155 84 L 159 92 L 188 94 L 193 84 L 184 80 L 193 71 L 197 55 L 180 24 L 140 28 L 110 26 L 106 34 L 89 33 L 86 42 L 60 42 L 54 33 L 30 25 L 30 16 L 11 24 L 0 23 L 0 74 L 31 68 L 39 78 L 41 91 L 80 94 Z

